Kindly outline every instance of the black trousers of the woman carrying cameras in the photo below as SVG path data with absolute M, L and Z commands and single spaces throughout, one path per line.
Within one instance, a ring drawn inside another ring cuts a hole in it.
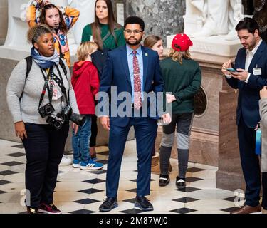
M 27 160 L 25 184 L 31 194 L 31 202 L 26 200 L 26 205 L 39 207 L 41 203 L 51 204 L 69 125 L 64 124 L 56 130 L 51 125 L 26 123 L 25 128 L 28 135 L 22 140 Z

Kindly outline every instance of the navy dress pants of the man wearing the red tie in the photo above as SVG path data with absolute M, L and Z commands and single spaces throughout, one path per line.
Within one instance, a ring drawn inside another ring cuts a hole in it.
M 138 117 L 130 118 L 130 123 L 125 127 L 113 125 L 110 121 L 107 197 L 117 197 L 120 165 L 131 126 L 134 126 L 137 142 L 137 196 L 150 195 L 151 151 L 157 136 L 157 120 Z

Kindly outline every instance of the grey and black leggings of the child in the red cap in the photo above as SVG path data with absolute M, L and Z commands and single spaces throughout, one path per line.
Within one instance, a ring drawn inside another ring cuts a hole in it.
M 189 136 L 194 113 L 172 114 L 172 122 L 163 125 L 162 142 L 160 147 L 160 173 L 168 175 L 169 157 L 172 152 L 176 129 L 177 155 L 180 178 L 185 178 L 189 157 Z

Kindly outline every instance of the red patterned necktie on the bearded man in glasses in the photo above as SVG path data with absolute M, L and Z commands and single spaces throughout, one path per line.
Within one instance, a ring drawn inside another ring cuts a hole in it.
M 136 109 L 140 109 L 142 106 L 142 96 L 141 96 L 141 79 L 140 79 L 140 69 L 139 63 L 136 56 L 136 51 L 133 53 L 133 68 L 134 68 L 134 106 Z

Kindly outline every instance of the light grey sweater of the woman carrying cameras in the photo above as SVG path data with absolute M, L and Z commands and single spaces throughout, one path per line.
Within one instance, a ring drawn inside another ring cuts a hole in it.
M 61 71 L 61 76 L 63 78 L 63 84 L 66 88 L 66 93 L 69 91 L 70 95 L 70 106 L 73 108 L 73 113 L 79 113 L 78 105 L 76 103 L 75 93 L 73 87 L 71 86 L 70 81 L 70 71 L 68 69 L 67 64 L 63 61 L 66 69 L 67 69 L 67 78 L 63 72 L 63 69 L 58 64 L 58 68 Z M 54 68 L 55 74 L 58 76 L 58 71 Z M 45 74 L 46 76 L 46 74 Z M 14 123 L 23 121 L 24 123 L 36 123 L 36 124 L 47 124 L 46 118 L 41 118 L 41 115 L 38 113 L 38 104 L 41 98 L 41 93 L 44 85 L 43 74 L 41 73 L 41 69 L 38 67 L 35 61 L 31 66 L 31 71 L 28 74 L 28 78 L 26 78 L 26 60 L 21 60 L 18 65 L 14 68 L 9 78 L 9 82 L 6 86 L 6 100 L 9 106 L 9 110 L 11 112 Z M 21 94 L 23 92 L 23 96 L 21 100 Z M 66 100 L 64 98 L 64 102 L 66 105 Z M 48 93 L 46 90 L 46 94 L 43 98 L 43 105 L 49 103 Z M 55 108 L 54 114 L 61 112 L 61 98 L 58 100 L 52 100 L 51 104 L 53 108 Z

